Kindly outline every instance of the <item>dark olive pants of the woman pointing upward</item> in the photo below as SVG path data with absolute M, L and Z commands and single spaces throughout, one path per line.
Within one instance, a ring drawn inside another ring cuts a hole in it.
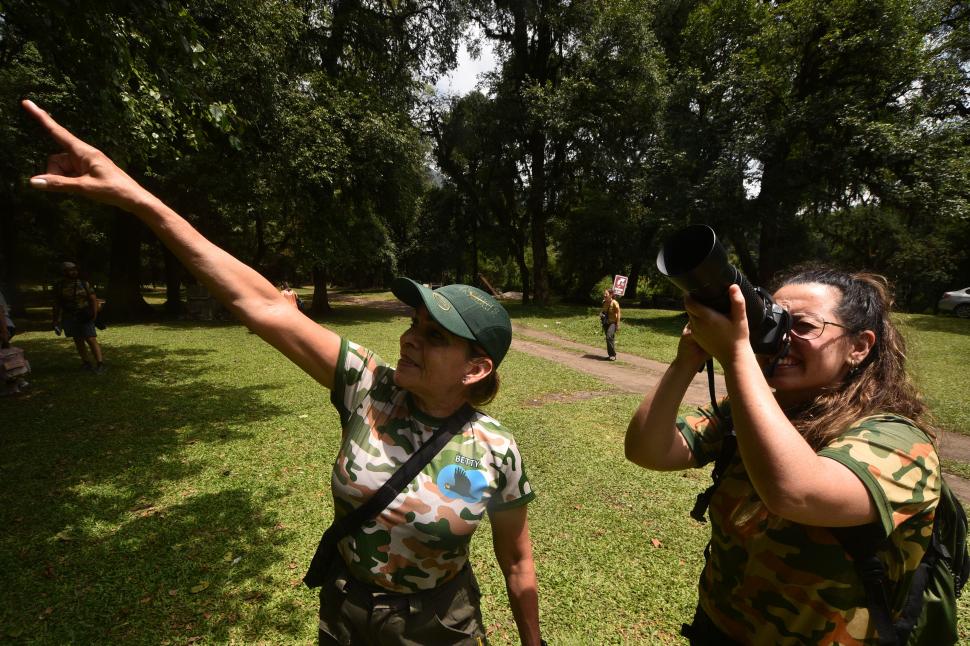
M 485 644 L 481 593 L 466 566 L 442 586 L 413 594 L 380 592 L 340 563 L 320 589 L 320 644 Z

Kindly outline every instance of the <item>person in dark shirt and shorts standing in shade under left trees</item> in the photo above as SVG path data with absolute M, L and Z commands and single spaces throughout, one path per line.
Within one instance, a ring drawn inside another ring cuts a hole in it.
M 61 265 L 63 278 L 54 289 L 54 331 L 74 339 L 74 347 L 81 357 L 81 367 L 100 373 L 104 370 L 101 345 L 95 322 L 98 318 L 98 297 L 87 281 L 78 278 L 77 265 L 65 262 Z M 88 358 L 88 348 L 94 363 Z

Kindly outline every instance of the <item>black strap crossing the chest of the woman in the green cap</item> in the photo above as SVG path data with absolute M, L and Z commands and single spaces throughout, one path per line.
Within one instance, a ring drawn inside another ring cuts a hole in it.
M 415 476 L 421 473 L 421 470 L 434 459 L 434 456 L 438 455 L 445 444 L 468 423 L 474 413 L 475 409 L 467 403 L 455 411 L 367 502 L 340 520 L 331 523 L 320 538 L 317 551 L 313 555 L 313 560 L 310 561 L 310 568 L 307 570 L 306 576 L 303 577 L 303 582 L 307 587 L 316 588 L 323 584 L 327 565 L 337 543 L 384 511 L 397 498 L 398 494 L 414 480 Z

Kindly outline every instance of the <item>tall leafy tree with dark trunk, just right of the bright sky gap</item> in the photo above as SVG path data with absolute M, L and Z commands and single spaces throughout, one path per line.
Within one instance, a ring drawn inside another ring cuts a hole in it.
M 537 303 L 550 295 L 553 219 L 586 194 L 597 162 L 610 160 L 600 180 L 629 175 L 655 132 L 659 89 L 647 16 L 648 4 L 636 1 L 479 5 L 478 23 L 501 60 L 492 89 L 513 142 L 506 152 L 518 156 L 525 178 Z

